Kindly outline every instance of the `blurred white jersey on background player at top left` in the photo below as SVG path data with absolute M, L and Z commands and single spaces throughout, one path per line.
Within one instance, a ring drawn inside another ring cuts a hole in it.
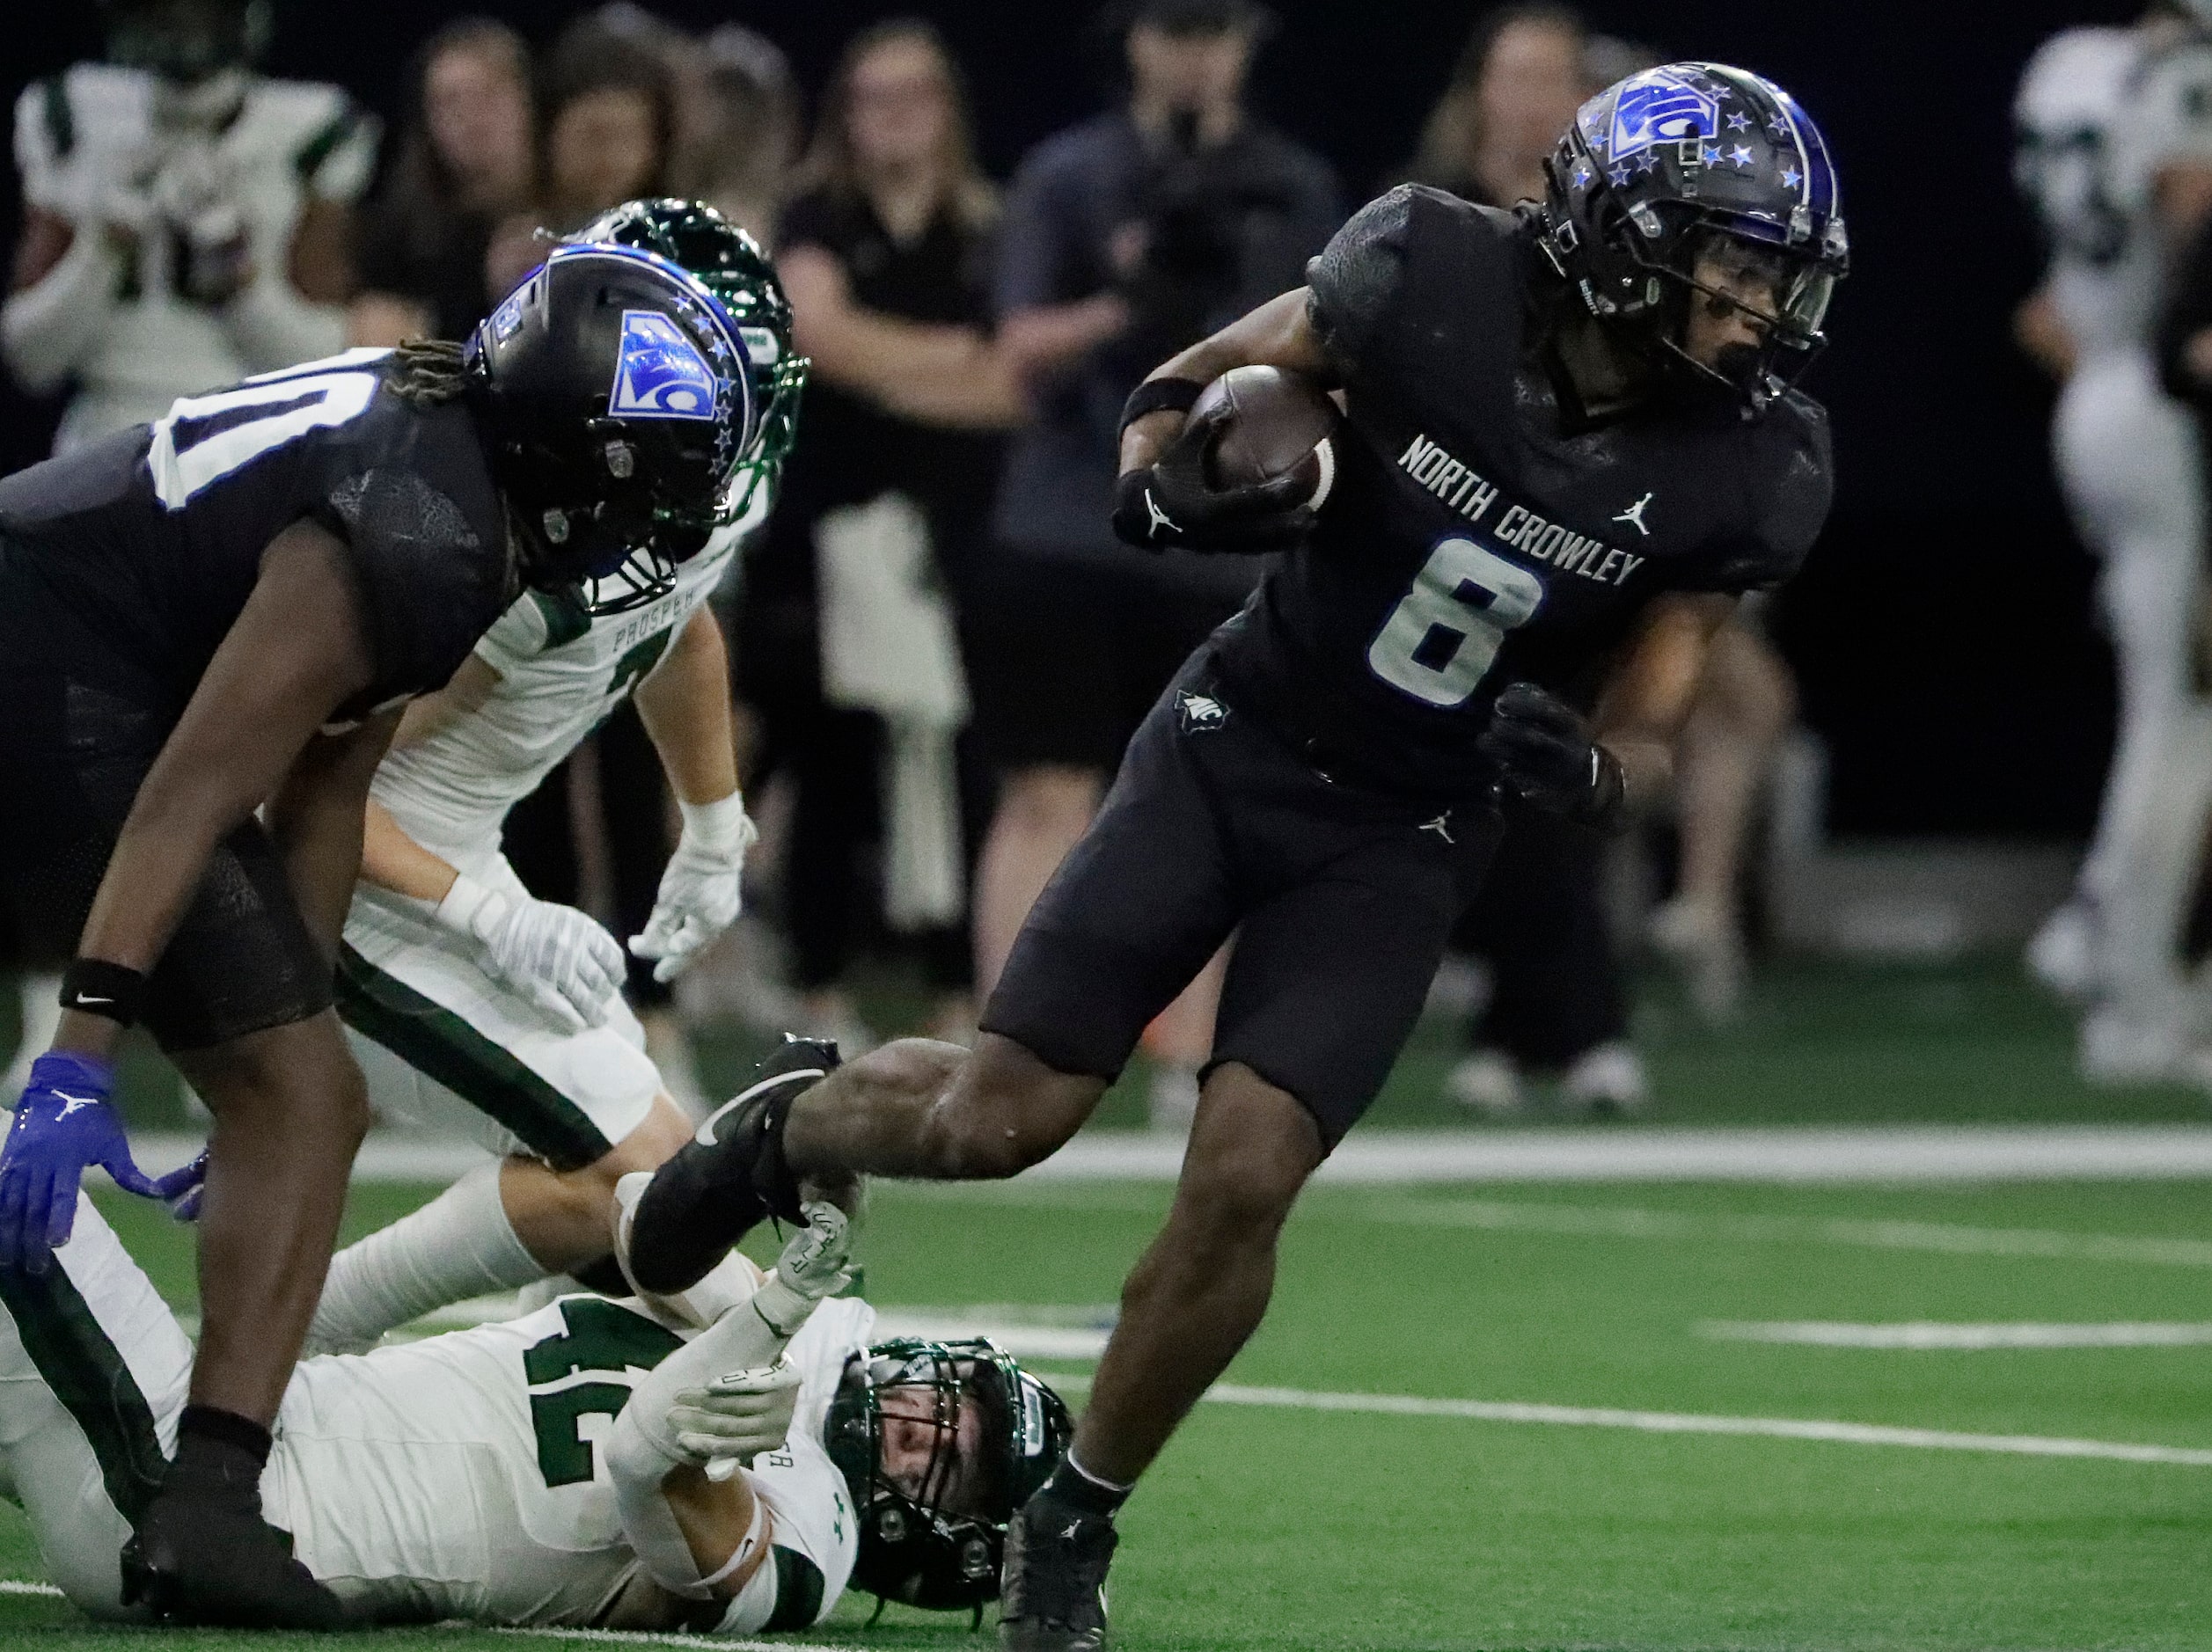
M 15 104 L 24 201 L 97 223 L 119 195 L 159 192 L 166 172 L 192 168 L 201 188 L 239 210 L 254 268 L 274 279 L 290 263 L 301 206 L 356 199 L 376 166 L 376 124 L 336 86 L 254 77 L 237 119 L 195 139 L 157 135 L 153 100 L 148 73 L 97 62 L 29 86 Z M 321 314 L 327 338 L 301 358 L 345 343 L 343 312 Z M 75 363 L 80 389 L 55 447 L 157 420 L 179 396 L 288 365 L 248 358 L 221 314 L 177 294 L 175 261 L 146 248 L 111 325 Z

